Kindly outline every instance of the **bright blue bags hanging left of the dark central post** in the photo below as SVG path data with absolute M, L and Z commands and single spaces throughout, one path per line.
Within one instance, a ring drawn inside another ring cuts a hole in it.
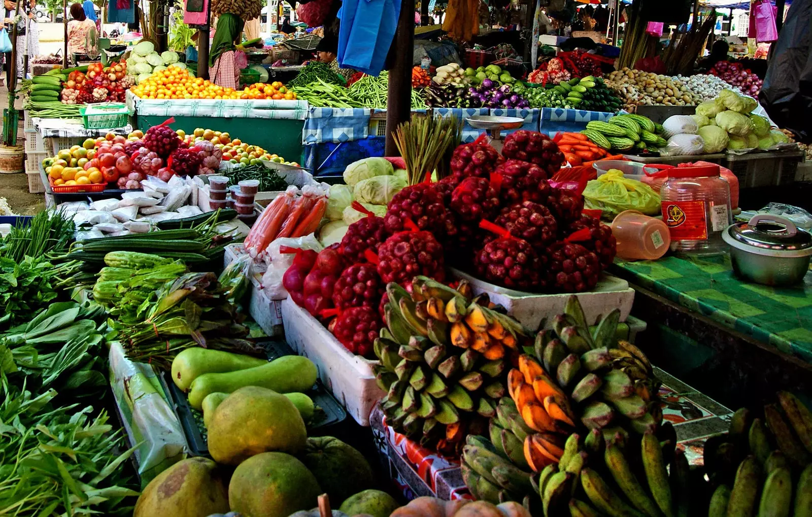
M 397 0 L 344 0 L 338 14 L 339 65 L 369 75 L 380 74 L 399 16 Z

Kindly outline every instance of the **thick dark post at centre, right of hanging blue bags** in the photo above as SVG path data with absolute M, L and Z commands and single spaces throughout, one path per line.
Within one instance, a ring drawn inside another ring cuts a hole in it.
M 400 0 L 400 18 L 389 51 L 386 156 L 398 156 L 395 129 L 412 116 L 412 59 L 414 58 L 414 0 Z

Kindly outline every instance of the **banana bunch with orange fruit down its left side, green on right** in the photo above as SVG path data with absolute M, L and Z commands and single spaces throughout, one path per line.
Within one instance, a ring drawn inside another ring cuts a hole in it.
M 612 311 L 590 330 L 572 296 L 554 321 L 555 337 L 540 332 L 535 356 L 520 355 L 518 368 L 508 373 L 508 392 L 535 431 L 524 444 L 533 471 L 558 462 L 564 439 L 581 425 L 613 437 L 627 430 L 654 431 L 662 422 L 659 382 L 646 355 L 617 340 L 618 317 Z

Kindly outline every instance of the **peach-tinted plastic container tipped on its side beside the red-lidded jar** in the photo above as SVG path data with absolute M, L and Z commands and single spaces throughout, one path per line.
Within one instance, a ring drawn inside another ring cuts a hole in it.
M 611 222 L 617 240 L 617 256 L 629 260 L 655 261 L 665 255 L 671 244 L 668 226 L 637 210 L 624 210 Z

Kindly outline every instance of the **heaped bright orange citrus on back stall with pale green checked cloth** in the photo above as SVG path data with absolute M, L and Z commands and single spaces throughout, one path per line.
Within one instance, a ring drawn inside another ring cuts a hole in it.
M 142 99 L 239 99 L 242 92 L 222 88 L 191 75 L 185 68 L 170 65 L 132 88 Z

